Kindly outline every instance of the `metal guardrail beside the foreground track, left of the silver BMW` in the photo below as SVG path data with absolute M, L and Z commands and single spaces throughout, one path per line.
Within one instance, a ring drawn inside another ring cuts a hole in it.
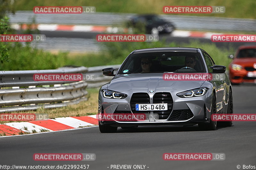
M 85 78 L 82 81 L 34 81 L 33 79 L 36 73 L 86 73 L 87 71 L 86 67 L 0 71 L 0 113 L 36 110 L 39 107 L 63 107 L 87 100 Z M 50 87 L 50 85 L 53 86 Z

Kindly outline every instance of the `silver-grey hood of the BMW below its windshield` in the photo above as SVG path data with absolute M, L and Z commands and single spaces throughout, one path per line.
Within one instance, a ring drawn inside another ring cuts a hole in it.
M 138 73 L 116 75 L 109 83 L 108 90 L 117 92 L 132 89 L 173 88 L 176 90 L 191 90 L 201 87 L 205 81 L 168 81 L 163 79 L 163 73 Z

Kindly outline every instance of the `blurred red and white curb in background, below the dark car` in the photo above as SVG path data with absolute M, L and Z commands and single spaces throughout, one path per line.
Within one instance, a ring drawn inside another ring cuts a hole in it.
M 110 26 L 92 26 L 92 25 L 58 25 L 58 24 L 12 24 L 15 30 L 24 30 L 27 28 L 38 29 L 39 31 L 71 31 L 71 32 L 107 32 L 117 33 L 120 31 L 118 27 Z M 127 28 L 122 29 L 123 32 L 128 32 Z M 211 32 L 198 32 L 198 31 L 181 31 L 175 30 L 172 32 L 172 37 L 190 37 L 190 38 L 205 38 L 211 39 L 213 34 L 223 33 L 211 33 Z

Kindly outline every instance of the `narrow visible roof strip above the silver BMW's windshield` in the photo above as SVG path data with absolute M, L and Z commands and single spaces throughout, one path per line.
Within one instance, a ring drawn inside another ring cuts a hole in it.
M 192 52 L 192 53 L 197 53 L 198 49 L 201 49 L 201 48 L 190 48 L 190 47 L 144 48 L 144 49 L 136 49 L 132 52 L 132 54 L 150 53 L 150 52 Z M 204 51 L 204 50 L 202 50 L 202 51 Z

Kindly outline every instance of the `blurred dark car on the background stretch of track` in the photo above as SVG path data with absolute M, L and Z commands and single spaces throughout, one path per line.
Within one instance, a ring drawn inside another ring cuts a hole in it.
M 137 15 L 130 19 L 128 27 L 138 28 L 147 34 L 172 33 L 175 30 L 173 23 L 160 18 L 155 14 Z

